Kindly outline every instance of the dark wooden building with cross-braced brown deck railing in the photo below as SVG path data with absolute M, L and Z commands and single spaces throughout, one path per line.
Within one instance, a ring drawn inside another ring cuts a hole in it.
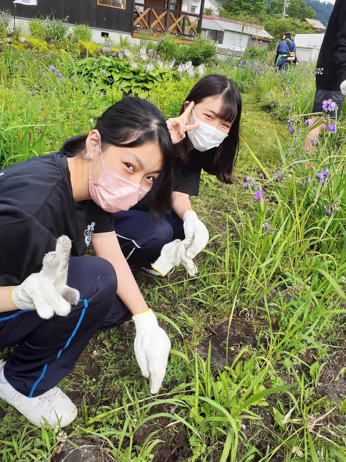
M 88 23 L 91 29 L 138 36 L 139 30 L 176 33 L 192 38 L 201 32 L 204 0 L 200 13 L 181 11 L 182 0 L 37 0 L 37 6 L 1 0 L 1 9 L 18 18 L 65 19 L 70 24 Z M 103 33 L 102 33 L 103 31 Z

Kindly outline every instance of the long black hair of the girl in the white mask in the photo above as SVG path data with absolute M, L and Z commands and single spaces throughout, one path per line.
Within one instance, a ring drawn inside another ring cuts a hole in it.
M 216 175 L 217 179 L 224 183 L 232 183 L 232 171 L 239 150 L 239 123 L 241 116 L 241 96 L 237 85 L 233 80 L 220 74 L 210 74 L 199 80 L 193 86 L 185 101 L 200 103 L 207 97 L 221 96 L 222 104 L 218 117 L 232 126 L 227 138 L 215 149 L 201 152 L 203 170 Z M 184 112 L 184 104 L 180 114 Z M 179 144 L 173 146 L 174 155 L 184 161 L 188 159 L 188 137 L 186 136 Z

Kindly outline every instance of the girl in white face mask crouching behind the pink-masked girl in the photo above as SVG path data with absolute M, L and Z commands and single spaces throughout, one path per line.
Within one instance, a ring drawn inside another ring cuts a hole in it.
M 152 205 L 149 193 L 131 210 L 114 215 L 115 232 L 134 274 L 144 269 L 150 274 L 165 275 L 183 264 L 191 276 L 195 275 L 193 259 L 208 243 L 209 234 L 192 211 L 189 196 L 198 195 L 202 169 L 221 182 L 232 183 L 239 148 L 238 87 L 223 75 L 208 75 L 191 89 L 181 114 L 191 102 L 194 106 L 188 123 L 197 123 L 198 128 L 186 132 L 188 136 L 173 146 L 172 209 L 157 226 L 148 213 Z

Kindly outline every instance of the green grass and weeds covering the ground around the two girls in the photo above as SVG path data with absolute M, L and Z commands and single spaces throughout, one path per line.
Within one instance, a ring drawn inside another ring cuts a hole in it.
M 197 256 L 199 273 L 188 278 L 179 267 L 165 279 L 137 279 L 172 341 L 160 395 L 149 395 L 140 374 L 131 322 L 91 339 L 59 384 L 78 407 L 67 438 L 93 439 L 104 461 L 346 460 L 344 122 L 337 134 L 322 135 L 316 170 L 304 170 L 304 118 L 294 113 L 293 137 L 282 120 L 292 115 L 286 104 L 309 112 L 311 102 L 298 92 L 304 68 L 290 85 L 299 106 L 287 103 L 285 88 L 275 90 L 278 115 L 267 87 L 286 76 L 264 64 L 233 64 L 217 71 L 243 91 L 241 149 L 234 184 L 203 173 L 192 199 L 211 237 Z M 116 87 L 100 93 L 97 82 L 75 85 L 74 72 L 72 57 L 0 55 L 2 167 L 57 149 L 122 97 Z M 151 98 L 167 116 L 176 113 L 195 80 L 162 83 Z M 330 175 L 325 186 L 316 178 L 322 168 Z M 266 194 L 254 201 L 257 188 Z M 327 217 L 323 207 L 336 201 L 340 211 Z M 218 370 L 215 350 L 203 359 L 197 347 L 213 342 L 223 323 L 226 365 Z M 52 429 L 27 424 L 4 401 L 0 417 L 3 461 L 49 461 L 60 448 Z

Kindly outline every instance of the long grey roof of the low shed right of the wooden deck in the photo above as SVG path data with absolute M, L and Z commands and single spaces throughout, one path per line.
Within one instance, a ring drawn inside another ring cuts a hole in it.
M 247 35 L 254 35 L 263 38 L 273 38 L 263 26 L 257 24 L 242 23 L 233 19 L 219 18 L 218 16 L 207 16 L 203 14 L 202 29 L 209 30 L 231 30 Z

